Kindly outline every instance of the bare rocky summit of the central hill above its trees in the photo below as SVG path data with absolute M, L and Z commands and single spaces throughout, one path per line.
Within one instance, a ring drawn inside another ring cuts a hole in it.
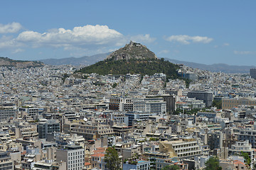
M 154 52 L 151 52 L 145 45 L 137 42 L 129 42 L 129 44 L 120 48 L 117 51 L 112 52 L 107 56 L 107 60 L 145 60 L 145 59 L 157 59 Z

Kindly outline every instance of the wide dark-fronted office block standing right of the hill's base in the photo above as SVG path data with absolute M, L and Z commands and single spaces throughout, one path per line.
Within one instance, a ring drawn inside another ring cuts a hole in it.
M 213 93 L 210 91 L 189 91 L 188 97 L 203 101 L 203 103 L 206 103 L 206 108 L 213 104 Z

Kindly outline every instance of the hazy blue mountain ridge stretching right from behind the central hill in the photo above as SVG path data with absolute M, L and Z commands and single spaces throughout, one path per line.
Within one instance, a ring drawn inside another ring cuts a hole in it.
M 249 74 L 251 68 L 256 68 L 255 66 L 236 66 L 236 65 L 228 65 L 228 64 L 199 64 L 196 62 L 184 62 L 179 60 L 173 60 L 169 58 L 165 58 L 169 62 L 173 62 L 175 64 L 184 64 L 188 67 L 208 70 L 210 72 L 225 72 L 225 73 L 242 73 Z

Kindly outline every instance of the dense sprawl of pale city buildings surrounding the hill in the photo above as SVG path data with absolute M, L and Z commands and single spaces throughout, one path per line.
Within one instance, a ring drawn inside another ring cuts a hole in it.
M 80 68 L 1 67 L 3 169 L 255 168 L 256 69 L 178 64 L 166 79 Z

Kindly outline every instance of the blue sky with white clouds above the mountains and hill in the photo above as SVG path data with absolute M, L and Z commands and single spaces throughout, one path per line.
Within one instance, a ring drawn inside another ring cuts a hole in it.
M 0 56 L 111 52 L 130 40 L 157 57 L 256 66 L 256 1 L 1 1 Z

